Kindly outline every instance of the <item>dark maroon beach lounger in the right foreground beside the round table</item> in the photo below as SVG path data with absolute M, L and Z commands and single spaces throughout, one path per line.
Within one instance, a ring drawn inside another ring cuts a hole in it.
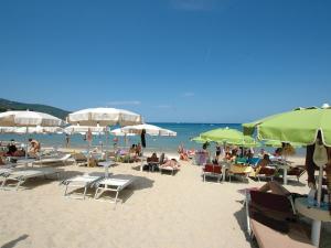
M 249 191 L 246 203 L 247 229 L 259 248 L 313 247 L 288 196 Z

